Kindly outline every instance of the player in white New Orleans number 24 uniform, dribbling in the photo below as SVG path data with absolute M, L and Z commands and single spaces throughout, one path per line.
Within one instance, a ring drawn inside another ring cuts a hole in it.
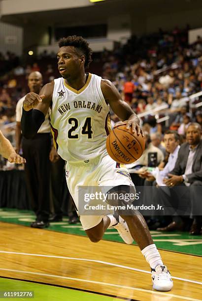
M 143 135 L 143 132 L 136 114 L 121 99 L 114 85 L 95 74 L 85 73 L 92 53 L 88 42 L 79 36 L 68 36 L 59 41 L 59 47 L 57 59 L 62 77 L 46 84 L 40 96 L 27 94 L 21 124 L 23 135 L 32 138 L 48 108 L 52 108 L 55 145 L 59 155 L 67 161 L 67 186 L 78 209 L 78 186 L 110 185 L 119 193 L 134 185 L 129 177 L 117 172 L 120 168 L 116 168 L 116 162 L 105 149 L 109 105 L 128 129 L 132 126 L 137 135 Z M 81 215 L 80 221 L 93 242 L 100 241 L 104 231 L 111 226 L 118 230 L 126 243 L 135 240 L 152 269 L 153 288 L 159 291 L 172 288 L 170 273 L 163 265 L 140 213 L 118 217 Z

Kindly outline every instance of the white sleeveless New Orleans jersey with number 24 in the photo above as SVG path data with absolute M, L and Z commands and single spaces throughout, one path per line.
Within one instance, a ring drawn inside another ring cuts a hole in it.
M 59 155 L 69 163 L 86 161 L 106 150 L 110 131 L 109 105 L 101 77 L 89 73 L 85 86 L 75 90 L 64 78 L 54 80 L 51 130 Z

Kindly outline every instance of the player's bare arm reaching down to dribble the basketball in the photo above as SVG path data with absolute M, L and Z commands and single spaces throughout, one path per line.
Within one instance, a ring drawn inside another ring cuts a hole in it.
M 139 126 L 139 119 L 131 107 L 122 100 L 119 91 L 108 80 L 101 80 L 101 90 L 106 102 L 110 105 L 113 112 L 124 122 L 120 122 L 118 125 L 126 124 L 129 129 L 132 126 L 133 132 L 137 131 L 137 135 L 143 134 Z

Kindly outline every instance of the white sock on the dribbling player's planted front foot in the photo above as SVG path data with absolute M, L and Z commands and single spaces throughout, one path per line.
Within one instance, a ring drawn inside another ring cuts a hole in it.
M 158 265 L 163 265 L 161 255 L 154 243 L 146 246 L 141 252 L 152 269 L 155 269 Z

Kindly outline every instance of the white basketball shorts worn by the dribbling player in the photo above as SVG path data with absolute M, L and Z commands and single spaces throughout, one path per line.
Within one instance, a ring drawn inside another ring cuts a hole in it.
M 80 186 L 134 186 L 124 164 L 115 162 L 104 151 L 100 156 L 85 162 L 66 164 L 66 180 L 74 205 L 78 211 L 78 188 Z M 134 187 L 135 188 L 135 187 Z M 84 230 L 97 226 L 104 215 L 80 215 Z

